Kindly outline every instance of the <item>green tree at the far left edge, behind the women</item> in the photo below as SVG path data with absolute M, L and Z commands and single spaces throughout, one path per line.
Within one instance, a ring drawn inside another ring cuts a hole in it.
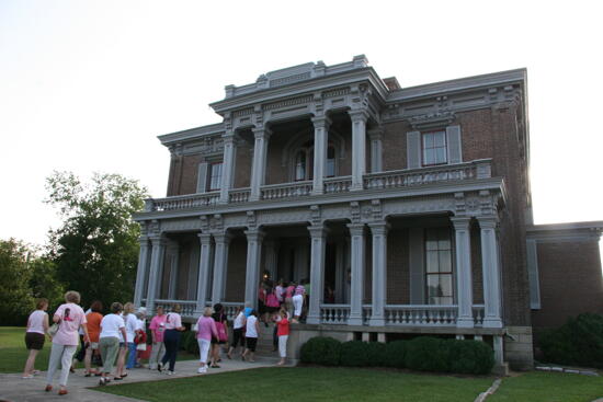
M 27 246 L 18 240 L 0 240 L 0 318 L 2 324 L 22 324 L 34 307 L 29 280 Z

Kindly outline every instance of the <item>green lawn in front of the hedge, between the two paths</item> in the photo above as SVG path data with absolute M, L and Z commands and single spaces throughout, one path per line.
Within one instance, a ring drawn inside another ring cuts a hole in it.
M 491 378 L 414 375 L 394 370 L 258 368 L 96 389 L 146 401 L 473 401 Z

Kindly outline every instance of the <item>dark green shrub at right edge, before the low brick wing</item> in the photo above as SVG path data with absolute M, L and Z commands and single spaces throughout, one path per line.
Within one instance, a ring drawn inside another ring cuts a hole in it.
M 547 361 L 603 368 L 603 315 L 570 318 L 559 329 L 542 332 L 538 343 Z

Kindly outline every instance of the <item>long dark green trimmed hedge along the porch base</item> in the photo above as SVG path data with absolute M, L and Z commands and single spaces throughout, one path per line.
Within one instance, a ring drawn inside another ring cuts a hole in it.
M 485 375 L 494 366 L 494 353 L 483 342 L 441 340 L 350 341 L 317 336 L 302 346 L 302 361 L 325 366 L 395 367 L 422 371 Z

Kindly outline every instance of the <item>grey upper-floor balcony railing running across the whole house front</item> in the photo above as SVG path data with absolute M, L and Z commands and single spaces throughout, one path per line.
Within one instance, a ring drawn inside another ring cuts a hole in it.
M 488 177 L 491 177 L 491 160 L 482 159 L 465 163 L 369 173 L 364 175 L 363 183 L 365 189 L 374 191 Z M 351 176 L 325 179 L 323 193 L 348 193 L 351 184 Z M 230 189 L 228 202 L 230 204 L 248 203 L 250 193 L 250 188 Z M 312 182 L 304 181 L 264 185 L 261 186 L 260 193 L 262 200 L 307 197 L 312 194 Z M 213 206 L 218 204 L 218 202 L 219 192 L 147 199 L 145 211 L 194 209 Z

